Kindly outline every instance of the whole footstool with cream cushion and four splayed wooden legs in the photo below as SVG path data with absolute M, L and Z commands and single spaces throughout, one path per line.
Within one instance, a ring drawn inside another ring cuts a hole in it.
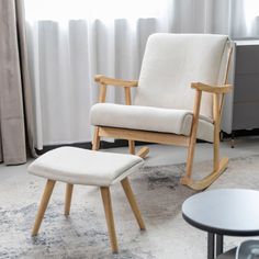
M 69 215 L 74 184 L 100 187 L 113 252 L 117 252 L 110 187 L 121 182 L 140 229 L 145 224 L 132 192 L 127 176 L 136 171 L 144 160 L 139 156 L 60 147 L 33 161 L 30 173 L 47 179 L 32 235 L 38 233 L 44 213 L 56 181 L 66 182 L 65 215 Z

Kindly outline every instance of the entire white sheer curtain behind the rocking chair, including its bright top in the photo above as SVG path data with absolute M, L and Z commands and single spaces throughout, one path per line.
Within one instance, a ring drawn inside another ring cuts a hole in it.
M 249 22 L 247 13 L 252 2 L 25 0 L 36 147 L 91 140 L 89 110 L 98 92 L 93 76 L 137 79 L 148 35 L 256 36 L 257 12 Z M 109 101 L 121 100 L 110 88 Z

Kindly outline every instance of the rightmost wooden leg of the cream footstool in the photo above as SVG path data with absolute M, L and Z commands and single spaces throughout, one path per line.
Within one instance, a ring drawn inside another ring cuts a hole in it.
M 131 207 L 132 207 L 132 211 L 137 219 L 137 223 L 139 225 L 139 228 L 142 230 L 145 230 L 146 227 L 145 227 L 145 224 L 144 224 L 144 221 L 142 218 L 142 214 L 140 214 L 140 211 L 138 210 L 138 206 L 137 206 L 137 203 L 136 203 L 136 200 L 134 198 L 134 194 L 133 194 L 133 191 L 132 191 L 132 188 L 131 188 L 131 184 L 130 184 L 130 181 L 127 178 L 123 179 L 121 181 L 122 183 L 122 187 L 123 187 L 123 190 L 127 196 L 127 200 L 128 200 L 128 203 L 131 204 Z

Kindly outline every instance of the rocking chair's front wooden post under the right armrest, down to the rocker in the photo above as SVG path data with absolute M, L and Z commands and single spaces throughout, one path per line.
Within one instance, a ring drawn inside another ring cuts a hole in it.
M 201 108 L 201 98 L 202 98 L 202 91 L 198 90 L 195 93 L 195 102 L 194 102 L 194 108 L 193 108 L 191 138 L 190 138 L 188 158 L 187 158 L 187 172 L 183 178 L 190 178 L 192 173 L 192 165 L 193 165 L 194 150 L 195 150 L 195 144 L 196 144 L 199 114 L 200 114 L 200 108 Z

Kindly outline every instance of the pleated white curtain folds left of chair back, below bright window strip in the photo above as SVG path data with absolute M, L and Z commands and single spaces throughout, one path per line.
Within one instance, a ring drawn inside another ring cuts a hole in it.
M 27 23 L 36 147 L 90 142 L 89 111 L 99 90 L 94 75 L 137 79 L 147 37 L 160 26 L 156 19 Z M 109 88 L 108 101 L 121 97 Z

